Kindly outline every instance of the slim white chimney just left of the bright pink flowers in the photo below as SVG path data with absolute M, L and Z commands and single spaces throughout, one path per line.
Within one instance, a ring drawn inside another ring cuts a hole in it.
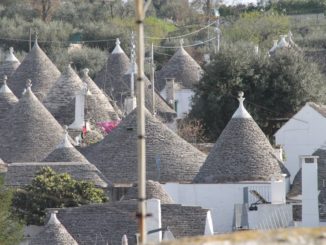
M 83 88 L 76 93 L 75 121 L 69 125 L 69 128 L 71 129 L 81 130 L 85 126 L 85 102 L 86 102 L 87 92 L 88 92 L 87 84 L 84 83 Z

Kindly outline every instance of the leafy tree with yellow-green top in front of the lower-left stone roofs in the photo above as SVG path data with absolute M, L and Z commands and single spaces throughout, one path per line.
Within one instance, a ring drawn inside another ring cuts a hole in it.
M 42 225 L 46 208 L 76 207 L 107 200 L 103 190 L 93 183 L 77 181 L 67 173 L 51 168 L 37 172 L 30 185 L 17 190 L 13 197 L 13 211 L 28 225 Z

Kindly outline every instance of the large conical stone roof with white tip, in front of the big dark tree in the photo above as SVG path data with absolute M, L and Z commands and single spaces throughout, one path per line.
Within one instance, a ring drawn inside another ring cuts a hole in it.
M 195 183 L 270 181 L 275 175 L 289 174 L 274 155 L 268 139 L 240 105 L 209 153 Z

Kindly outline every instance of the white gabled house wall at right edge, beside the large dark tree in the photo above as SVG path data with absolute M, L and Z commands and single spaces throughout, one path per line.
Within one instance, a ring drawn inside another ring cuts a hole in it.
M 326 142 L 326 118 L 305 105 L 275 133 L 276 144 L 285 152 L 285 166 L 291 182 L 299 170 L 299 156 L 311 155 Z

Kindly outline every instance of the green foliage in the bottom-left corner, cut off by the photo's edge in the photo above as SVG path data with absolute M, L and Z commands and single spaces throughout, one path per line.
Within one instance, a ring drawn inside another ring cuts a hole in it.
M 3 185 L 0 176 L 0 244 L 18 244 L 23 237 L 23 224 L 11 213 L 13 190 Z

